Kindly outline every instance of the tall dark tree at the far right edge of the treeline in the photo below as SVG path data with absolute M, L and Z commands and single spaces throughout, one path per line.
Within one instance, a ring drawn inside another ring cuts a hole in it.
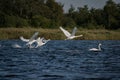
M 107 23 L 105 25 L 107 29 L 120 28 L 119 25 L 120 20 L 117 18 L 120 17 L 119 10 L 120 8 L 112 0 L 107 1 L 106 5 L 104 6 L 104 12 L 106 14 L 107 20 Z

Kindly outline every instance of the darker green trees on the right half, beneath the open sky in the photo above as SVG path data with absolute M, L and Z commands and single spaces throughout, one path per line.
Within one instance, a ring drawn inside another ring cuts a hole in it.
M 87 5 L 85 5 L 78 7 L 78 10 L 75 11 L 74 7 L 71 6 L 66 15 L 72 18 L 77 26 L 83 28 L 120 28 L 120 4 L 115 4 L 112 0 L 108 0 L 103 9 L 92 8 L 88 10 Z

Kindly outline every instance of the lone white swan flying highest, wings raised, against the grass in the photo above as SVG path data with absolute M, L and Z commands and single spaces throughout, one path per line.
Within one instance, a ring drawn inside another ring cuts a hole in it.
M 61 31 L 65 34 L 65 36 L 67 37 L 67 39 L 65 40 L 68 40 L 68 39 L 74 39 L 74 38 L 77 38 L 77 37 L 82 37 L 83 35 L 78 35 L 78 36 L 75 36 L 75 33 L 77 31 L 77 28 L 74 27 L 73 31 L 72 31 L 72 34 L 70 34 L 67 30 L 63 29 L 62 27 L 60 27 Z

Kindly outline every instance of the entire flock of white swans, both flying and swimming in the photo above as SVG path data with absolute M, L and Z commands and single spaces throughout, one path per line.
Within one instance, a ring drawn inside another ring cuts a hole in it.
M 60 30 L 64 33 L 64 35 L 66 36 L 66 39 L 65 40 L 71 40 L 71 39 L 74 39 L 74 38 L 77 38 L 77 37 L 82 37 L 83 35 L 78 35 L 78 36 L 75 36 L 75 33 L 77 31 L 77 28 L 74 27 L 72 33 L 69 33 L 67 30 L 65 30 L 63 27 L 59 27 Z M 40 46 L 43 46 L 45 45 L 48 41 L 50 41 L 50 39 L 46 40 L 44 37 L 37 37 L 39 34 L 39 32 L 35 32 L 33 34 L 33 36 L 30 38 L 30 39 L 25 39 L 23 36 L 20 37 L 20 39 L 23 41 L 23 42 L 26 42 L 25 46 L 27 46 L 28 48 L 38 48 Z M 36 43 L 37 45 L 36 46 L 32 46 L 32 44 Z M 91 48 L 89 49 L 89 51 L 101 51 L 101 43 L 99 43 L 98 45 L 98 48 Z M 19 45 L 15 45 L 15 47 L 18 47 L 20 48 L 21 46 Z

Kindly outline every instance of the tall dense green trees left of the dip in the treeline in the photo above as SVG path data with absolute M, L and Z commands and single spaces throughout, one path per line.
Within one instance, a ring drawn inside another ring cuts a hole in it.
M 0 0 L 0 26 L 55 28 L 61 25 L 62 7 L 55 0 Z

